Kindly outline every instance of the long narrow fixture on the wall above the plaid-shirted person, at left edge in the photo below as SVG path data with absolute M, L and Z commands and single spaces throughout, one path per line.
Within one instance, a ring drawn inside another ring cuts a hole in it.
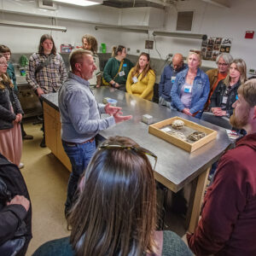
M 49 25 L 40 25 L 36 23 L 25 23 L 25 22 L 16 22 L 16 21 L 8 21 L 8 20 L 0 20 L 0 26 L 16 26 L 16 27 L 47 29 L 47 30 L 67 32 L 67 27 L 65 26 L 49 26 Z

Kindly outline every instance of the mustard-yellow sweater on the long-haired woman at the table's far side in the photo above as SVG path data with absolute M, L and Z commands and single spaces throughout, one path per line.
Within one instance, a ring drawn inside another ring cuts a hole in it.
M 126 90 L 128 93 L 139 96 L 145 100 L 152 100 L 154 93 L 154 82 L 155 82 L 155 73 L 154 70 L 149 69 L 146 76 L 142 79 L 142 74 L 137 78 L 138 81 L 136 84 L 133 83 L 131 73 L 134 70 L 134 67 L 131 68 L 130 73 L 128 74 L 126 80 Z M 137 76 L 137 74 L 136 74 Z

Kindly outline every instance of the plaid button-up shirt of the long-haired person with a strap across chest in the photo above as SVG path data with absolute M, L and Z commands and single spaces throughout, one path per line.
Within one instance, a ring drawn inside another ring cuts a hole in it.
M 44 93 L 56 92 L 67 79 L 67 70 L 61 55 L 56 53 L 51 58 L 49 65 L 43 67 L 37 74 L 37 67 L 46 61 L 47 56 L 34 53 L 29 58 L 26 81 L 33 90 L 40 87 Z

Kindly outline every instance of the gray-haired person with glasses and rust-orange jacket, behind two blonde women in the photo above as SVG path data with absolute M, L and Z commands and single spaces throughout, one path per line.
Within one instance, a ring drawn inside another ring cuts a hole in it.
M 218 55 L 216 59 L 216 64 L 218 68 L 209 69 L 207 75 L 210 81 L 210 93 L 208 96 L 207 103 L 205 105 L 205 111 L 209 111 L 210 99 L 213 91 L 218 85 L 218 82 L 222 79 L 225 79 L 229 72 L 230 62 L 233 61 L 233 57 L 228 53 L 223 53 Z

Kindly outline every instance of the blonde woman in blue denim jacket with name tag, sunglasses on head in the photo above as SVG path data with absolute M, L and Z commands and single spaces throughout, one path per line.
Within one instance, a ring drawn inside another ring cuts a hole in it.
M 201 118 L 210 91 L 210 83 L 201 66 L 201 56 L 190 52 L 188 67 L 177 74 L 172 86 L 172 108 L 196 118 Z

